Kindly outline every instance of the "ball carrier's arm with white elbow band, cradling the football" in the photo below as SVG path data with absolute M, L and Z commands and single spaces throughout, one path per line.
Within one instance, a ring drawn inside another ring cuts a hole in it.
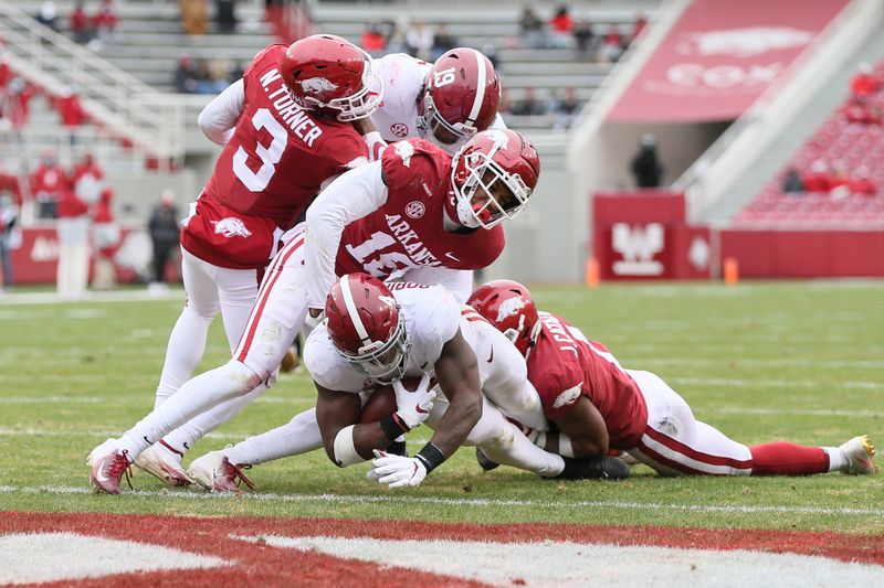
M 316 384 L 316 421 L 325 452 L 344 468 L 371 459 L 372 449 L 385 449 L 402 432 L 390 439 L 380 421 L 359 423 L 361 400 L 358 394 L 337 392 Z

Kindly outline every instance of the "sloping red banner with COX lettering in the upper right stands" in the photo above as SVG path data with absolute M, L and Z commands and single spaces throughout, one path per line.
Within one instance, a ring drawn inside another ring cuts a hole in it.
M 694 0 L 609 114 L 620 122 L 741 115 L 848 0 Z

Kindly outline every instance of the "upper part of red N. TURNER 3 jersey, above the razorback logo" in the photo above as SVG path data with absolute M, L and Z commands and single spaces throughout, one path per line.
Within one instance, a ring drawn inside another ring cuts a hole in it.
M 365 162 L 368 148 L 349 122 L 315 117 L 292 100 L 278 71 L 285 50 L 270 45 L 243 74 L 243 111 L 203 197 L 287 231 L 320 184 Z

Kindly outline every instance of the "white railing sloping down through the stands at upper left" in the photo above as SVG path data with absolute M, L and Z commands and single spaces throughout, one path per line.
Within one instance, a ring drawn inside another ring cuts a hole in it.
M 0 36 L 10 66 L 34 84 L 56 96 L 75 86 L 97 125 L 161 162 L 183 157 L 185 111 L 176 96 L 155 90 L 2 1 Z

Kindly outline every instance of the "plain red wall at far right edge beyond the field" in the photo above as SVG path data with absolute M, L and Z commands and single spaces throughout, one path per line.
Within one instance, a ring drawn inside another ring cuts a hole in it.
M 722 259 L 746 278 L 884 276 L 881 231 L 722 231 Z

